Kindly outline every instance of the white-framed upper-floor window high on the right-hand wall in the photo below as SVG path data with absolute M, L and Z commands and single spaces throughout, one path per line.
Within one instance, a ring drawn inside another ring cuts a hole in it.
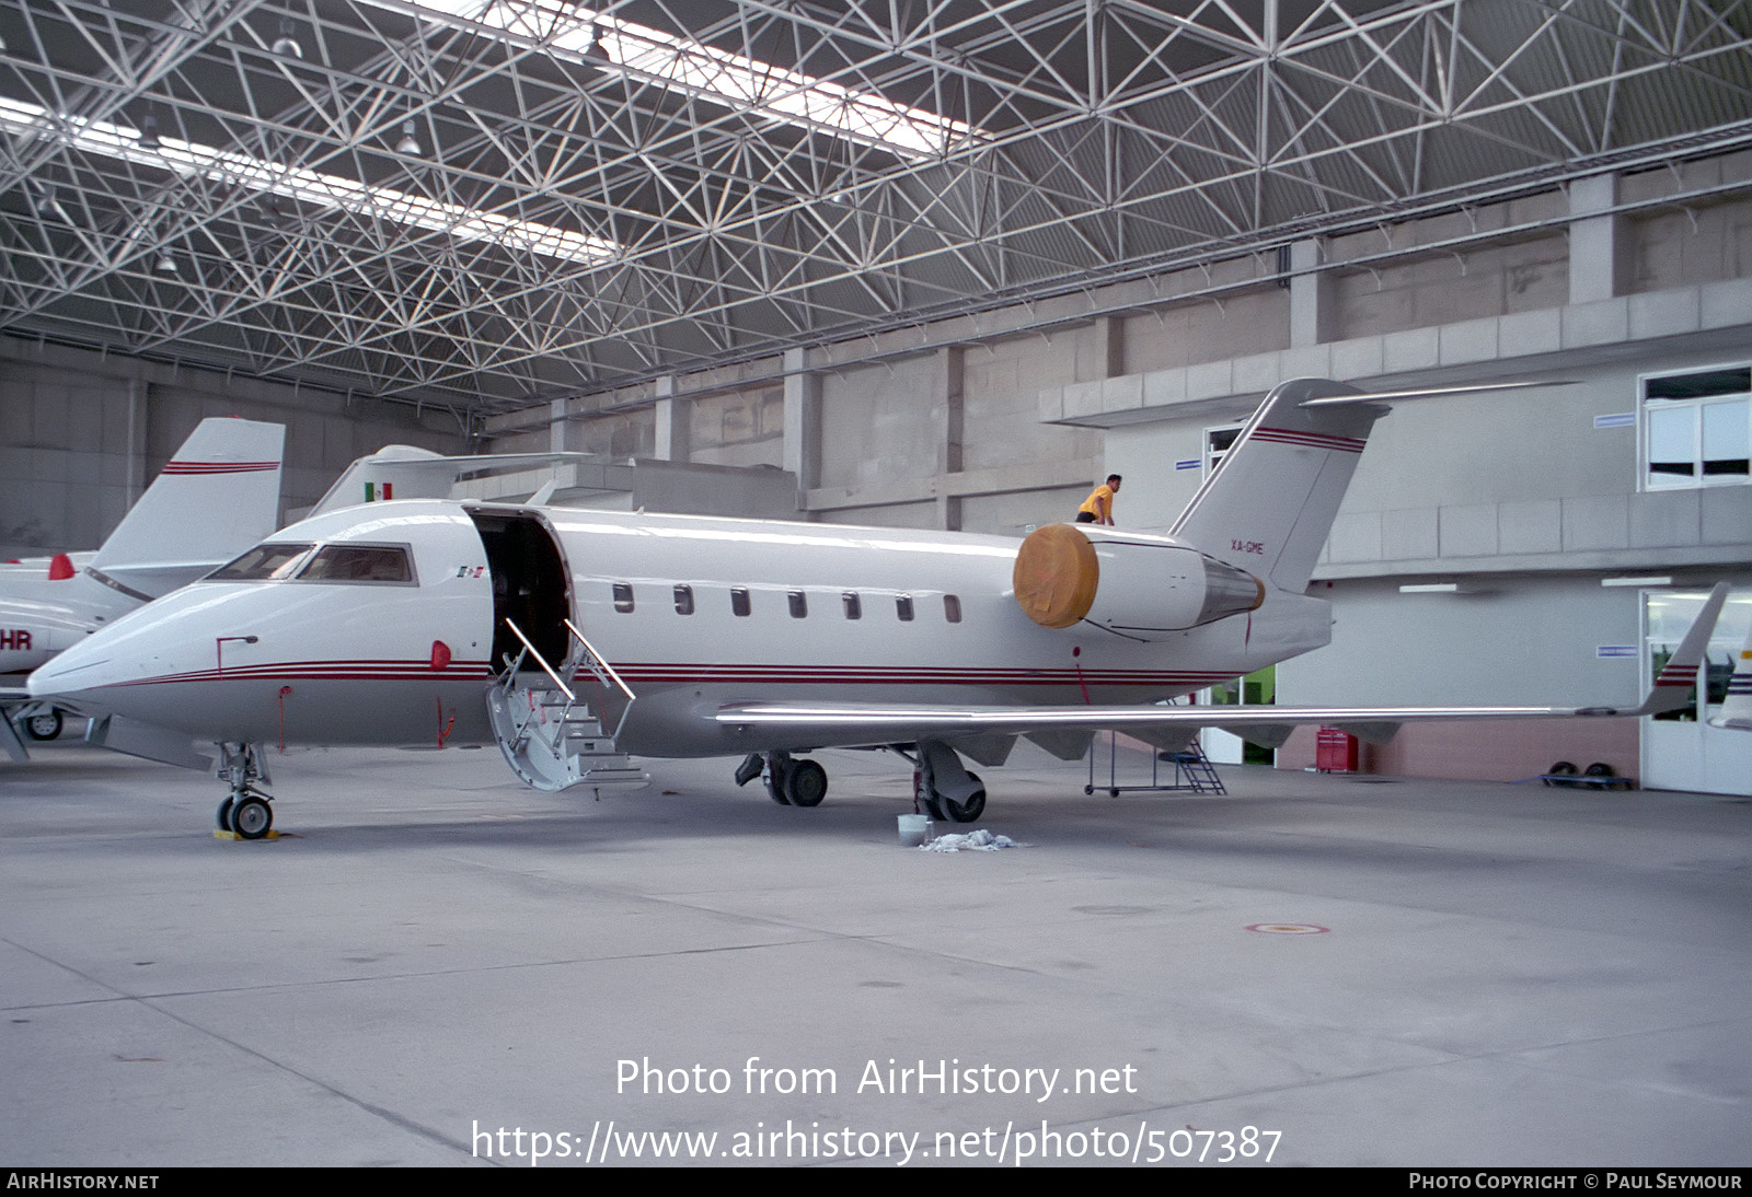
M 1640 415 L 1643 490 L 1748 481 L 1752 368 L 1643 378 Z

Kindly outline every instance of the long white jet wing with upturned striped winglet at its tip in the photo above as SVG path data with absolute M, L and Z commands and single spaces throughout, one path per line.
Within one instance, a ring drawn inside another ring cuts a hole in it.
M 1661 668 L 1654 686 L 1635 707 L 997 707 L 997 705 L 897 705 L 897 704 L 725 704 L 715 721 L 727 732 L 746 732 L 762 742 L 864 747 L 916 740 L 951 740 L 972 735 L 1035 735 L 1053 732 L 1132 732 L 1163 735 L 1197 728 L 1221 728 L 1249 738 L 1281 742 L 1296 724 L 1323 723 L 1382 740 L 1402 723 L 1431 719 L 1572 719 L 1607 716 L 1650 716 L 1691 702 L 1698 665 L 1710 632 L 1727 598 L 1720 583 L 1703 604 L 1678 649 Z

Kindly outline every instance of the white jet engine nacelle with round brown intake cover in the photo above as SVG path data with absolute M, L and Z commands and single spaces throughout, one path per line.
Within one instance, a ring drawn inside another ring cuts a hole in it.
M 1074 523 L 1030 532 L 1011 581 L 1016 604 L 1042 628 L 1088 620 L 1137 640 L 1162 640 L 1265 602 L 1265 583 L 1195 548 Z

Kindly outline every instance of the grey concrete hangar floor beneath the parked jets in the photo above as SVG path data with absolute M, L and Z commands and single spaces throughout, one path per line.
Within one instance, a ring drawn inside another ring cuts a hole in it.
M 1027 847 L 941 856 L 897 758 L 822 760 L 792 810 L 729 761 L 596 803 L 300 752 L 293 835 L 237 844 L 212 779 L 49 746 L 0 777 L 0 1162 L 1752 1160 L 1745 800 L 1084 798 L 1023 749 L 979 826 Z

